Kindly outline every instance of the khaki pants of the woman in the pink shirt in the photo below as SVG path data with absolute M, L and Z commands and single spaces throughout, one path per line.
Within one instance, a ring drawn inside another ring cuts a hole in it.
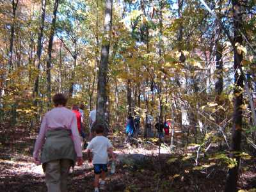
M 48 192 L 67 192 L 67 179 L 71 164 L 70 159 L 58 159 L 45 164 L 45 182 Z

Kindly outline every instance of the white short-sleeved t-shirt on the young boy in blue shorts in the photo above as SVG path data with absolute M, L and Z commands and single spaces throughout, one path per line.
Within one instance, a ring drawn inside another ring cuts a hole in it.
M 112 145 L 108 138 L 104 136 L 95 136 L 90 141 L 87 149 L 92 150 L 93 153 L 93 164 L 107 164 L 108 163 L 108 148 Z

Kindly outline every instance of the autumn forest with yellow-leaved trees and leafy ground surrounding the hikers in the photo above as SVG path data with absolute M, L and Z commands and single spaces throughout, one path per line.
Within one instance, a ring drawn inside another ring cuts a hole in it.
M 86 137 L 93 109 L 106 124 L 106 191 L 256 191 L 255 0 L 0 0 L 0 19 L 0 191 L 47 191 L 32 154 L 55 93 Z M 83 159 L 68 191 L 93 190 Z

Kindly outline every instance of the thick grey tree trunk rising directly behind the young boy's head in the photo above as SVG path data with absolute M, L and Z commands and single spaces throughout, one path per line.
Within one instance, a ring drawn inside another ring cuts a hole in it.
M 112 0 L 106 0 L 105 10 L 105 22 L 104 22 L 104 36 L 102 40 L 102 49 L 100 55 L 100 65 L 98 74 L 98 86 L 97 86 L 97 115 L 96 122 L 106 125 L 105 111 L 106 111 L 106 92 L 107 92 L 107 79 L 108 79 L 108 58 L 109 58 L 109 46 L 111 39 L 112 28 Z

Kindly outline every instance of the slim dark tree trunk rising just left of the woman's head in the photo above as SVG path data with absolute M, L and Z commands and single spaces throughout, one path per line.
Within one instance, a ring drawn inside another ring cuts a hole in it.
M 52 59 L 52 44 L 53 38 L 56 28 L 56 17 L 57 17 L 57 10 L 59 6 L 59 1 L 55 0 L 54 2 L 54 10 L 53 10 L 53 18 L 51 23 L 51 33 L 49 37 L 49 44 L 48 44 L 48 51 L 47 51 L 47 61 L 46 61 L 46 74 L 47 74 L 47 108 L 51 106 L 51 59 Z

